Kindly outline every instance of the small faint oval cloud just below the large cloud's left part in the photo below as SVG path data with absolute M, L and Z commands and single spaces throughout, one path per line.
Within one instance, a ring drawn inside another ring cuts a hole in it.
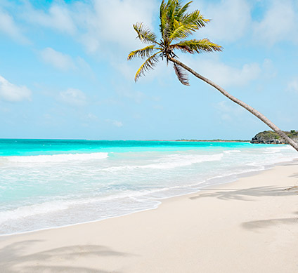
M 40 52 L 40 55 L 44 62 L 47 62 L 60 70 L 67 71 L 75 68 L 70 55 L 55 51 L 53 48 L 44 48 L 44 50 Z

